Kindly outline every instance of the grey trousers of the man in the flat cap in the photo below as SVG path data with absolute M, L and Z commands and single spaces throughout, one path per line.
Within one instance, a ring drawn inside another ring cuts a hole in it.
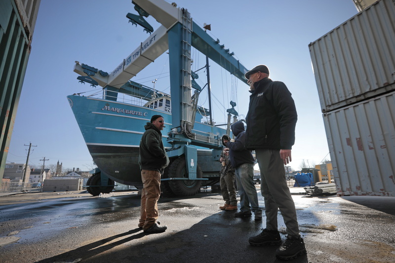
M 265 199 L 266 228 L 277 230 L 277 211 L 281 212 L 290 236 L 300 236 L 295 203 L 287 186 L 284 163 L 279 150 L 255 150 L 261 170 L 261 193 Z

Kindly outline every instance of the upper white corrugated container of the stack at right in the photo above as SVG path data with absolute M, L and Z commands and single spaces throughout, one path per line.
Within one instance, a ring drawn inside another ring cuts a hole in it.
M 395 2 L 380 0 L 310 43 L 323 113 L 394 89 Z

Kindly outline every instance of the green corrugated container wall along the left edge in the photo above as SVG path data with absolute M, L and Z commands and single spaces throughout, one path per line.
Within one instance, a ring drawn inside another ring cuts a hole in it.
M 0 0 L 0 179 L 31 50 L 40 0 Z

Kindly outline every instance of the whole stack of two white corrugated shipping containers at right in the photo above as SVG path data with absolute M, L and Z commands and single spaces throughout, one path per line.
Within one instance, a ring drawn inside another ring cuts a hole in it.
M 395 2 L 310 43 L 338 195 L 395 196 Z

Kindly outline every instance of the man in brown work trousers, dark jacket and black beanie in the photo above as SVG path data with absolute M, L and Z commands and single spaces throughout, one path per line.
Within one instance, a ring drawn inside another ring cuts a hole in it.
M 161 115 L 151 117 L 151 122 L 144 126 L 145 132 L 140 141 L 139 164 L 141 169 L 141 207 L 139 227 L 146 233 L 161 233 L 166 225 L 159 225 L 158 200 L 160 196 L 160 175 L 169 164 L 169 157 L 164 150 L 162 133 L 164 120 Z

